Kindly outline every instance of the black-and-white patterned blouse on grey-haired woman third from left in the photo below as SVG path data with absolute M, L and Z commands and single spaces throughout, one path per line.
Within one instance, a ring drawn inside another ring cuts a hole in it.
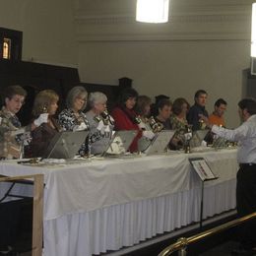
M 90 129 L 87 116 L 82 111 L 79 112 L 79 116 L 77 117 L 73 109 L 66 108 L 63 111 L 61 111 L 58 118 L 59 118 L 59 124 L 66 131 L 73 131 L 75 127 L 81 125 L 82 123 L 85 125 L 84 130 L 89 131 Z M 87 138 L 79 150 L 79 155 L 85 156 L 86 154 L 89 154 L 90 148 L 91 147 L 89 145 L 89 138 Z

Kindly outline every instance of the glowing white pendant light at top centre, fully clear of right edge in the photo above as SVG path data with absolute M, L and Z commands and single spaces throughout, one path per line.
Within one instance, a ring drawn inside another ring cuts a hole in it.
M 136 21 L 142 23 L 166 23 L 169 0 L 137 0 Z

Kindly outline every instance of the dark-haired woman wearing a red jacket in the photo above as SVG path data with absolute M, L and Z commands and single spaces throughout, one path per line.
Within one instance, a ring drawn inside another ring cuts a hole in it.
M 117 106 L 112 110 L 111 115 L 114 118 L 114 128 L 120 130 L 137 130 L 139 133 L 132 142 L 129 151 L 138 151 L 138 140 L 142 137 L 142 130 L 139 127 L 140 120 L 135 111 L 135 105 L 138 93 L 131 88 L 123 90 L 119 96 Z

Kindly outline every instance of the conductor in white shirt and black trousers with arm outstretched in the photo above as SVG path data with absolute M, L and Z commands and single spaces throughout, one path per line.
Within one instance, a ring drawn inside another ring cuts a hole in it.
M 236 207 L 238 217 L 256 212 L 256 100 L 243 98 L 238 102 L 238 113 L 243 123 L 234 130 L 208 122 L 212 132 L 229 141 L 238 142 L 236 176 Z M 205 119 L 205 121 L 207 121 Z M 239 250 L 235 255 L 256 253 L 256 221 L 241 226 Z

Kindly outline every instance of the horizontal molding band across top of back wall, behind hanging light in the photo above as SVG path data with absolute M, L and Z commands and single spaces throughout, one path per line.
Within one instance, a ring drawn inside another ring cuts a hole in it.
M 250 39 L 251 6 L 185 5 L 173 6 L 169 22 L 142 24 L 134 14 L 89 14 L 78 10 L 74 21 L 77 39 L 85 41 L 210 40 Z M 100 13 L 100 12 L 99 12 Z

